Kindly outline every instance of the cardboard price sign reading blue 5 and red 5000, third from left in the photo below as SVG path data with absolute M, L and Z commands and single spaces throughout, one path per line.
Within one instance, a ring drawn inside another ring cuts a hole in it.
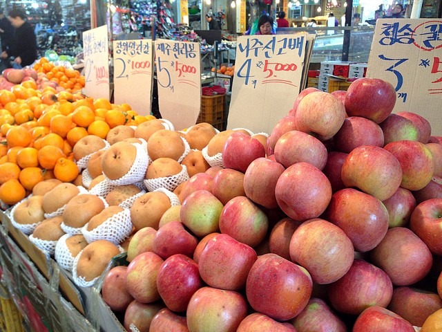
M 200 114 L 200 62 L 198 43 L 155 41 L 160 113 L 177 130 L 191 127 Z

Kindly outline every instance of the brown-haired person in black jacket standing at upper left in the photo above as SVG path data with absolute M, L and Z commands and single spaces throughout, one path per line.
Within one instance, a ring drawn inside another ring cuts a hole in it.
M 15 28 L 12 44 L 1 53 L 2 59 L 14 57 L 17 66 L 29 66 L 37 59 L 37 38 L 34 28 L 28 22 L 26 14 L 19 9 L 13 9 L 8 14 L 8 19 Z

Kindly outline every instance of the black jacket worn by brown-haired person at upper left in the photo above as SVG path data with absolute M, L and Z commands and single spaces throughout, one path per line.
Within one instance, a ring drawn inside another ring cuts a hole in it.
M 34 28 L 25 21 L 20 28 L 15 30 L 15 36 L 9 50 L 10 57 L 21 57 L 21 66 L 29 66 L 37 59 L 37 38 Z

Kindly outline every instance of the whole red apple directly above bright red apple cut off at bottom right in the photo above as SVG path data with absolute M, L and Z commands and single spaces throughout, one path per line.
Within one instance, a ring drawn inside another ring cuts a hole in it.
M 385 308 L 392 294 L 393 285 L 387 273 L 362 259 L 354 259 L 349 271 L 328 288 L 332 306 L 349 315 L 359 315 L 369 306 Z

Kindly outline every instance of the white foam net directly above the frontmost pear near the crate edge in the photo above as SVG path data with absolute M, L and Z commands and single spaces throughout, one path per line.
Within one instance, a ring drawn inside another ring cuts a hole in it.
M 107 240 L 118 245 L 131 235 L 132 229 L 131 210 L 124 209 L 110 216 L 104 223 L 93 230 L 88 230 L 88 223 L 86 223 L 81 229 L 81 233 L 88 243 L 97 240 Z

